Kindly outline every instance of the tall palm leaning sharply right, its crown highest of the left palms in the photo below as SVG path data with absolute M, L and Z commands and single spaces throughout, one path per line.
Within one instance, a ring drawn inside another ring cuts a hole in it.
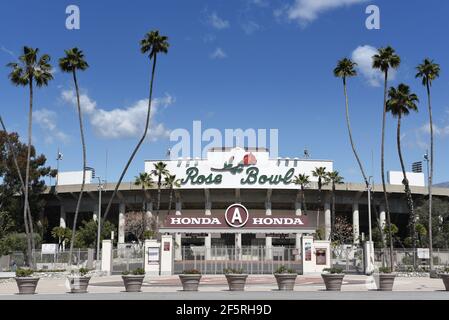
M 150 80 L 150 95 L 148 98 L 148 110 L 147 110 L 147 117 L 145 122 L 145 130 L 143 132 L 142 137 L 140 138 L 139 142 L 137 143 L 136 147 L 134 148 L 133 152 L 131 153 L 131 156 L 128 159 L 128 162 L 125 165 L 125 168 L 123 169 L 120 178 L 115 185 L 114 192 L 112 193 L 111 198 L 109 199 L 108 206 L 106 207 L 103 220 L 106 221 L 106 217 L 109 213 L 109 210 L 112 205 L 112 201 L 114 200 L 118 188 L 120 187 L 120 184 L 122 183 L 123 177 L 126 174 L 126 171 L 128 170 L 128 167 L 130 166 L 131 162 L 134 159 L 134 156 L 136 155 L 137 151 L 140 149 L 140 146 L 142 145 L 143 141 L 145 140 L 148 128 L 150 126 L 150 114 L 151 114 L 151 104 L 153 100 L 153 83 L 154 83 L 154 75 L 156 71 L 156 61 L 157 56 L 160 53 L 167 53 L 169 43 L 167 42 L 168 38 L 166 36 L 160 35 L 159 31 L 150 31 L 147 34 L 145 34 L 145 37 L 140 41 L 140 51 L 143 54 L 148 54 L 148 57 L 150 58 L 150 61 L 153 60 L 153 67 L 151 70 L 151 80 Z

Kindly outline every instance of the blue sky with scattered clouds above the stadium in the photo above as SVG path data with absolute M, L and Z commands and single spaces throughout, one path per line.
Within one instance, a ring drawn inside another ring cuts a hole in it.
M 81 11 L 80 30 L 65 28 L 65 9 Z M 365 8 L 380 8 L 380 30 L 365 27 Z M 79 74 L 85 108 L 88 164 L 115 181 L 141 134 L 150 64 L 139 40 L 153 29 L 169 37 L 158 58 L 155 112 L 147 139 L 125 180 L 143 171 L 144 159 L 164 158 L 176 128 L 279 129 L 279 155 L 332 159 L 346 181 L 361 181 L 348 142 L 341 80 L 332 70 L 348 56 L 359 62 L 349 80 L 355 141 L 369 174 L 380 181 L 382 83 L 370 70 L 374 48 L 391 45 L 402 58 L 392 85 L 407 83 L 421 99 L 420 112 L 403 124 L 403 151 L 410 165 L 428 144 L 424 87 L 414 78 L 424 57 L 441 76 L 432 87 L 436 126 L 435 182 L 449 180 L 449 3 L 363 0 L 242 1 L 10 1 L 0 4 L 0 112 L 9 130 L 26 135 L 28 93 L 10 84 L 5 66 L 23 45 L 57 60 L 77 46 L 90 68 Z M 364 64 L 365 63 L 365 64 Z M 56 68 L 57 70 L 57 68 Z M 34 144 L 61 170 L 81 169 L 80 138 L 71 78 L 56 71 L 37 90 Z M 387 123 L 386 168 L 399 170 L 396 122 Z

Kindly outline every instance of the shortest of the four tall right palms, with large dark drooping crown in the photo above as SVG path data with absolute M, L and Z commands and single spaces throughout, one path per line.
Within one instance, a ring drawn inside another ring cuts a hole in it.
M 396 131 L 396 142 L 398 147 L 399 161 L 401 162 L 402 174 L 404 179 L 402 183 L 404 184 L 404 191 L 407 197 L 407 205 L 410 211 L 410 233 L 412 236 L 413 249 L 416 248 L 416 218 L 415 210 L 413 206 L 412 192 L 410 190 L 409 182 L 407 179 L 407 174 L 405 172 L 404 159 L 402 157 L 401 150 L 401 119 L 407 116 L 410 111 L 418 111 L 416 102 L 418 102 L 418 97 L 416 94 L 410 92 L 409 86 L 401 83 L 397 89 L 391 87 L 388 91 L 388 101 L 387 101 L 387 112 L 390 112 L 393 117 L 398 119 L 398 126 Z M 413 251 L 415 252 L 415 250 Z

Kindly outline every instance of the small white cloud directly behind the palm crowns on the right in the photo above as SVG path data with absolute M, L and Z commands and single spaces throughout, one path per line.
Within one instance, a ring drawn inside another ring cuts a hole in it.
M 352 52 L 352 60 L 357 63 L 357 71 L 361 74 L 373 87 L 380 86 L 384 81 L 383 73 L 378 69 L 373 69 L 373 55 L 377 53 L 377 49 L 369 46 L 359 46 Z M 388 79 L 396 78 L 396 70 L 391 69 L 388 73 Z

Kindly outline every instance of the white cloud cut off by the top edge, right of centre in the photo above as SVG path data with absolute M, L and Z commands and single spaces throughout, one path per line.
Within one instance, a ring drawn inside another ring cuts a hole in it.
M 305 26 L 316 20 L 318 15 L 343 6 L 350 6 L 367 0 L 295 0 L 295 3 L 287 8 L 287 18 L 296 20 Z

